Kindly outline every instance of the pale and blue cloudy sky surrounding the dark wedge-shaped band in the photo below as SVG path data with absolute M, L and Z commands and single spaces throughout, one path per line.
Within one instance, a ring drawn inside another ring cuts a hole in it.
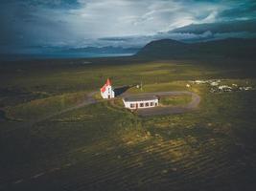
M 235 25 L 256 18 L 255 0 L 1 0 L 0 4 L 1 50 L 141 46 L 155 38 L 213 35 L 170 32 L 190 24 Z M 251 35 L 246 30 L 229 33 Z

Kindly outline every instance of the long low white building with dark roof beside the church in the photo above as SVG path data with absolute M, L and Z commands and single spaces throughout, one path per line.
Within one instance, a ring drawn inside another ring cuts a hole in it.
M 123 98 L 125 107 L 130 110 L 151 108 L 158 106 L 157 96 L 128 96 Z

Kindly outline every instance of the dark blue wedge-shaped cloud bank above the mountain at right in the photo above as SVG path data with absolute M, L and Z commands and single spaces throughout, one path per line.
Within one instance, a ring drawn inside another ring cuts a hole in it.
M 227 21 L 220 23 L 193 24 L 170 32 L 183 33 L 225 33 L 225 32 L 256 32 L 256 19 L 242 21 Z

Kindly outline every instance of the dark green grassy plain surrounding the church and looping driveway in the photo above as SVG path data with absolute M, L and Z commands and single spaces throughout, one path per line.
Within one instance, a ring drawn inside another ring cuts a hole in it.
M 0 190 L 255 190 L 255 90 L 211 93 L 209 84 L 191 83 L 215 78 L 255 87 L 255 71 L 90 61 L 1 66 Z M 138 117 L 121 100 L 104 101 L 27 125 L 81 103 L 106 77 L 116 87 L 143 83 L 129 93 L 192 91 L 201 102 L 192 113 Z

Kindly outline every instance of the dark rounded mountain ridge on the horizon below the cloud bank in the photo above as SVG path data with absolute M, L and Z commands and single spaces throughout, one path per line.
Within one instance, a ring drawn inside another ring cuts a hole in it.
M 163 39 L 147 44 L 136 56 L 173 59 L 221 56 L 255 59 L 256 39 L 227 38 L 190 44 L 172 39 Z

